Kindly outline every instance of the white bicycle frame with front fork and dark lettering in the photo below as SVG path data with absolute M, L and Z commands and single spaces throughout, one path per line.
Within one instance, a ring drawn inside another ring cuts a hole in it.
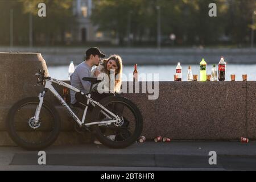
M 60 94 L 55 90 L 55 88 L 53 88 L 52 83 L 64 86 L 65 88 L 69 88 L 71 90 L 73 90 L 74 92 L 80 92 L 79 89 L 73 87 L 72 85 L 69 85 L 63 81 L 59 81 L 56 80 L 55 78 L 46 78 L 45 80 L 45 86 L 44 86 L 44 90 L 43 92 L 41 92 L 39 94 L 39 105 L 36 107 L 36 111 L 35 111 L 35 123 L 39 122 L 39 114 L 40 114 L 40 110 L 42 108 L 43 105 L 43 100 L 44 100 L 44 94 L 46 93 L 46 89 L 50 90 L 53 95 L 57 98 L 57 100 L 60 102 L 61 105 L 63 105 L 65 107 L 65 109 L 67 109 L 68 113 L 71 115 L 71 117 L 77 122 L 77 124 L 82 127 L 82 126 L 91 126 L 91 125 L 111 125 L 111 123 L 115 123 L 120 121 L 120 118 L 118 117 L 118 115 L 115 115 L 114 113 L 112 113 L 111 111 L 109 111 L 108 109 L 106 109 L 104 106 L 102 106 L 99 102 L 94 101 L 92 98 L 90 98 L 90 94 L 88 94 L 88 96 L 84 93 L 81 92 L 82 95 L 85 95 L 85 97 L 87 98 L 87 103 L 86 103 L 86 107 L 84 110 L 84 114 L 82 115 L 82 121 L 80 121 L 80 119 L 77 117 L 77 115 L 72 111 L 72 109 L 68 106 L 68 104 L 63 100 L 63 98 L 60 96 Z M 91 123 L 85 123 L 85 117 L 86 117 L 86 113 L 87 113 L 87 109 L 88 109 L 88 105 L 92 104 L 93 106 L 97 105 L 99 107 L 101 107 L 101 113 L 104 114 L 107 118 L 109 118 L 109 121 L 99 121 L 99 122 L 91 122 Z M 103 111 L 104 110 L 104 111 Z M 110 117 L 109 115 L 112 115 L 112 117 Z

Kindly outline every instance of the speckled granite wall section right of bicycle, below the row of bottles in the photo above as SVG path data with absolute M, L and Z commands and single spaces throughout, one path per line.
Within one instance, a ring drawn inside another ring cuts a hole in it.
M 156 100 L 148 100 L 152 93 L 141 93 L 143 84 L 146 82 L 139 84 L 140 93 L 135 93 L 134 85 L 133 93 L 123 93 L 122 96 L 135 102 L 141 110 L 144 120 L 142 135 L 147 139 L 156 135 L 174 140 L 256 138 L 255 81 L 163 81 L 159 82 Z M 68 115 L 62 117 L 64 121 Z

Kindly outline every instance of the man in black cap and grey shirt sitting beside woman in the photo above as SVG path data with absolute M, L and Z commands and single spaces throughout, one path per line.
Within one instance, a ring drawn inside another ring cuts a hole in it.
M 89 48 L 85 53 L 85 61 L 79 64 L 74 73 L 70 77 L 71 85 L 81 90 L 83 93 L 89 93 L 90 82 L 82 80 L 83 77 L 91 77 L 91 70 L 94 65 L 101 62 L 101 57 L 105 57 L 97 47 Z M 77 102 L 76 92 L 71 90 L 71 104 L 76 107 L 83 108 L 84 106 Z

